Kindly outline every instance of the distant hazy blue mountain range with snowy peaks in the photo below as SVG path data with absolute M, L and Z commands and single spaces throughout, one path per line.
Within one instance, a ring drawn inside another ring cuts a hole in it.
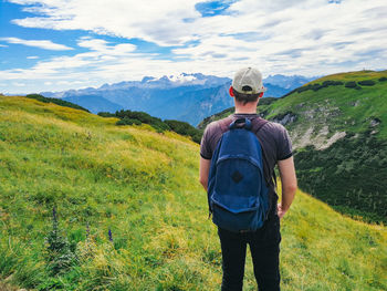
M 280 97 L 312 81 L 301 75 L 270 75 L 264 82 L 265 96 Z M 42 92 L 45 97 L 63 98 L 92 113 L 119 110 L 143 111 L 163 119 L 188 122 L 196 126 L 205 117 L 232 106 L 228 94 L 231 79 L 201 73 L 145 76 L 142 81 L 104 84 L 101 87 Z

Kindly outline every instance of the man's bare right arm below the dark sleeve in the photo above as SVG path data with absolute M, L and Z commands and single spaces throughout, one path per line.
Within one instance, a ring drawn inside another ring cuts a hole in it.
M 282 199 L 278 205 L 278 215 L 282 218 L 289 210 L 295 191 L 297 189 L 297 179 L 295 177 L 293 156 L 278 162 L 281 184 L 282 184 Z

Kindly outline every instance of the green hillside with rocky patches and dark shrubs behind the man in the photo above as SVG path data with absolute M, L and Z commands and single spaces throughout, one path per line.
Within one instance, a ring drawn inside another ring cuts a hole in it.
M 262 116 L 290 132 L 303 190 L 343 212 L 387 222 L 387 71 L 324 76 L 260 103 Z

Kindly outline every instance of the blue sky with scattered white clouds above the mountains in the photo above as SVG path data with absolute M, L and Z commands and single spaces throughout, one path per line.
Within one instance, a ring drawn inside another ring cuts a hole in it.
M 387 69 L 386 0 L 0 0 L 0 93 Z

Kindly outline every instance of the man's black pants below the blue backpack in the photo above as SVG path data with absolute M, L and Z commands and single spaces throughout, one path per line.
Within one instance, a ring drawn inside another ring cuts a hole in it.
M 280 290 L 280 218 L 274 215 L 254 232 L 234 233 L 218 228 L 222 250 L 222 291 L 242 290 L 247 245 L 260 291 Z

